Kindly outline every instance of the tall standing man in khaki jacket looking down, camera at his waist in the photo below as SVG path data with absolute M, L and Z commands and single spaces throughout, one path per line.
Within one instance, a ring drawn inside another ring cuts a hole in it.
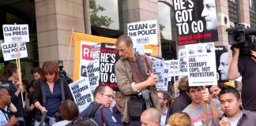
M 151 73 L 152 61 L 134 52 L 132 39 L 121 35 L 116 41 L 120 59 L 115 63 L 115 75 L 122 92 L 122 121 L 130 126 L 141 125 L 141 113 L 155 107 L 160 111 L 155 84 L 158 76 Z

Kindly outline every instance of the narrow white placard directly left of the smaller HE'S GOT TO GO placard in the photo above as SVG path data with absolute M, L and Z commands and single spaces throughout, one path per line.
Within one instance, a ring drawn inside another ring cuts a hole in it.
M 87 65 L 87 80 L 90 83 L 91 91 L 99 86 L 100 80 L 100 60 L 91 61 Z

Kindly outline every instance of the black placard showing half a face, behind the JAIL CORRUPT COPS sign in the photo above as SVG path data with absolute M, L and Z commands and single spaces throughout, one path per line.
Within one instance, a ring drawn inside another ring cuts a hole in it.
M 216 72 L 220 82 L 228 81 L 228 50 L 227 46 L 215 46 Z

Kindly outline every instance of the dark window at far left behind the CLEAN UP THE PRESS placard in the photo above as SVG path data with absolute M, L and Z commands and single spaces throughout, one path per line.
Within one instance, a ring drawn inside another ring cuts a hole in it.
M 14 2 L 15 1 L 15 2 Z M 36 33 L 36 9 L 34 1 L 11 0 L 1 2 L 0 25 L 2 24 L 28 24 L 29 43 L 26 43 L 28 57 L 21 58 L 22 80 L 32 80 L 31 69 L 39 66 L 38 46 Z M 3 43 L 2 30 L 0 31 L 0 43 Z M 4 70 L 4 65 L 9 62 L 16 64 L 15 60 L 4 61 L 2 49 L 0 48 L 0 74 Z

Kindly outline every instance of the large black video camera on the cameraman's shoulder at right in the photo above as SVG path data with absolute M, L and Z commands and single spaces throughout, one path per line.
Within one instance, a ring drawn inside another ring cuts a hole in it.
M 238 46 L 242 54 L 250 54 L 250 50 L 256 50 L 256 27 L 245 28 L 243 24 L 238 24 L 228 31 L 228 43 Z

